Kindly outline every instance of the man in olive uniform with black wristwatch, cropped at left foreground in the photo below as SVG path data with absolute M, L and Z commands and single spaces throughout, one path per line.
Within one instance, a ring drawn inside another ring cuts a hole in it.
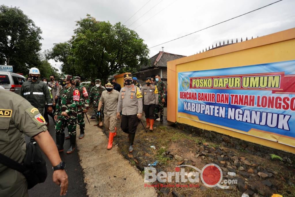
M 59 166 L 61 159 L 58 150 L 39 110 L 14 92 L 0 89 L 0 96 L 0 153 L 22 163 L 26 154 L 25 134 L 37 141 L 54 167 Z M 68 189 L 65 170 L 55 170 L 53 182 L 60 185 L 60 195 L 65 195 Z M 0 196 L 28 196 L 24 175 L 1 164 L 1 161 Z

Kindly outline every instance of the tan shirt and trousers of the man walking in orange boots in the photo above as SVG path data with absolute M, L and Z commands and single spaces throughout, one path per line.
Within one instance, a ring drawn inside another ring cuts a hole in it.
M 111 133 L 115 132 L 117 124 L 118 97 L 119 92 L 114 89 L 112 92 L 104 90 L 100 97 L 100 101 L 104 103 L 104 125 Z

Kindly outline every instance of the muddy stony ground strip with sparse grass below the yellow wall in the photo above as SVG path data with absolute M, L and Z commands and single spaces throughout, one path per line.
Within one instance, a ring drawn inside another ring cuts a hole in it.
M 142 122 L 146 124 L 145 121 Z M 243 193 L 248 193 L 249 196 L 271 196 L 273 193 L 295 196 L 294 165 L 280 161 L 280 158 L 271 159 L 270 155 L 262 153 L 257 156 L 242 148 L 227 148 L 171 126 L 155 126 L 154 131 L 146 133 L 141 123 L 137 126 L 134 151 L 129 154 L 128 135 L 119 129 L 120 121 L 117 128 L 113 144 L 139 169 L 142 177 L 144 167 L 155 161 L 159 162 L 155 166 L 158 172 L 174 172 L 175 167 L 182 164 L 202 169 L 206 164 L 214 163 L 222 168 L 223 180 L 238 181 L 237 184 L 223 184 L 230 186 L 229 189 L 209 188 L 201 180 L 199 188 L 156 188 L 158 196 L 242 196 Z M 104 127 L 103 130 L 108 136 L 108 130 Z M 150 146 L 155 146 L 155 149 Z M 186 167 L 185 170 L 189 172 L 192 168 Z M 236 176 L 229 176 L 228 172 L 235 172 Z M 157 183 L 159 182 L 153 184 Z

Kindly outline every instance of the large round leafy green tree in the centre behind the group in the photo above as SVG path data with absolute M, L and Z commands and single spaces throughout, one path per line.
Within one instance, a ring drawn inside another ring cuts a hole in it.
M 87 17 L 76 22 L 68 61 L 85 77 L 100 78 L 135 71 L 148 62 L 148 47 L 139 35 L 122 25 Z

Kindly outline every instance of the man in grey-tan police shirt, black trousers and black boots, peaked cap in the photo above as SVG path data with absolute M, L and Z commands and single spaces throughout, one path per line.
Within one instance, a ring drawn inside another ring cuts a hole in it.
M 125 86 L 120 90 L 117 117 L 122 110 L 121 129 L 129 134 L 129 152 L 133 152 L 133 141 L 142 115 L 142 94 L 140 88 L 132 84 L 132 75 L 124 74 Z

